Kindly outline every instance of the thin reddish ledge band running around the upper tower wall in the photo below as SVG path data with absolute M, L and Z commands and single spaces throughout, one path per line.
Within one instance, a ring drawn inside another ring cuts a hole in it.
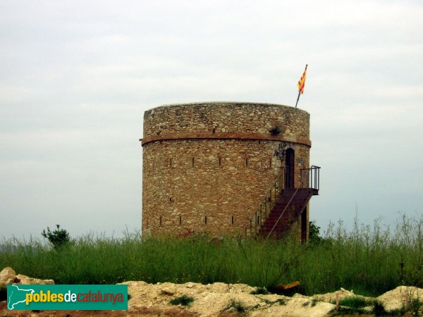
M 309 139 L 302 137 L 290 137 L 285 135 L 259 135 L 258 133 L 169 133 L 166 135 L 149 135 L 140 139 L 142 147 L 149 142 L 166 141 L 171 139 L 251 139 L 264 141 L 284 141 L 312 147 Z

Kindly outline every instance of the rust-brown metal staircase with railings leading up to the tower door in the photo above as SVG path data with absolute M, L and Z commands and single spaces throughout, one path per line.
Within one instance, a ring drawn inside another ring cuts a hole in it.
M 300 187 L 285 188 L 287 170 L 269 189 L 269 195 L 260 202 L 245 227 L 246 237 L 282 237 L 301 216 L 309 200 L 319 194 L 320 167 L 300 170 Z

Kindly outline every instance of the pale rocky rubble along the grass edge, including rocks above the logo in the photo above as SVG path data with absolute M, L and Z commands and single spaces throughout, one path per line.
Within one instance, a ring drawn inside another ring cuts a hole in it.
M 16 274 L 13 268 L 7 267 L 0 272 L 0 287 L 9 284 L 47 285 L 54 284 L 54 280 L 30 278 L 26 275 Z M 286 297 L 278 294 L 251 294 L 252 291 L 257 290 L 256 287 L 223 282 L 203 285 L 195 282 L 148 284 L 143 281 L 128 281 L 120 284 L 128 285 L 128 294 L 130 295 L 128 314 L 125 316 L 153 316 L 154 313 L 173 311 L 176 308 L 181 313 L 185 312 L 180 316 L 233 316 L 236 312 L 231 307 L 231 303 L 236 302 L 246 309 L 248 316 L 324 317 L 334 309 L 335 305 L 332 302 L 336 299 L 336 294 L 339 299 L 360 296 L 352 290 L 348 291 L 342 287 L 336 292 L 317 294 L 312 297 L 302 294 Z M 388 310 L 399 309 L 405 305 L 406 294 L 409 299 L 421 299 L 423 289 L 399 286 L 376 299 L 381 301 Z M 172 299 L 183 295 L 192 297 L 194 301 L 189 306 L 173 306 L 170 303 Z M 364 298 L 371 299 L 370 297 Z M 146 314 L 140 315 L 141 311 Z

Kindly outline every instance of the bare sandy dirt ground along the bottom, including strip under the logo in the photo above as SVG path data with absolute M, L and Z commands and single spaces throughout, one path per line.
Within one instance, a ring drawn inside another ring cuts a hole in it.
M 146 282 L 123 282 L 128 285 L 130 299 L 128 311 L 8 311 L 6 302 L 0 302 L 0 317 L 3 316 L 292 316 L 292 317 L 324 317 L 334 308 L 330 302 L 354 296 L 348 290 L 338 290 L 328 294 L 317 294 L 306 297 L 294 294 L 285 297 L 277 294 L 253 295 L 255 287 L 245 284 L 214 283 L 202 285 L 188 282 L 173 284 L 170 282 L 147 284 Z M 384 303 L 386 309 L 400 308 L 405 301 L 405 294 L 411 297 L 422 297 L 423 289 L 400 286 L 377 297 Z M 190 306 L 174 306 L 171 299 L 186 295 L 194 301 Z M 233 303 L 245 309 L 244 313 L 236 311 Z M 344 315 L 345 316 L 345 315 Z M 359 315 L 354 315 L 359 316 Z M 365 315 L 361 315 L 365 316 Z M 372 316 L 372 315 L 367 315 Z

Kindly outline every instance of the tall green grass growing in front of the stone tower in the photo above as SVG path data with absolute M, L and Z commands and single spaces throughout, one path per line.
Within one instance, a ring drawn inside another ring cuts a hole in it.
M 339 287 L 377 295 L 398 285 L 423 287 L 423 217 L 402 215 L 391 229 L 375 221 L 345 230 L 329 225 L 319 244 L 286 238 L 256 241 L 209 237 L 123 239 L 87 235 L 54 249 L 39 240 L 3 242 L 0 269 L 52 278 L 59 284 L 146 282 L 246 283 L 271 289 L 301 282 L 303 294 Z

